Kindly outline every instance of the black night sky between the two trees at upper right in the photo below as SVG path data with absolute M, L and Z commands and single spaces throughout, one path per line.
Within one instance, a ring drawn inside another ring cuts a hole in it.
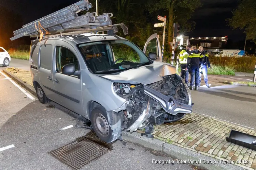
M 238 0 L 201 0 L 203 6 L 198 8 L 192 16 L 196 22 L 190 37 L 222 37 L 228 36 L 232 40 L 244 40 L 242 30 L 233 30 L 227 26 L 227 18 L 232 18 L 232 11 L 238 6 Z

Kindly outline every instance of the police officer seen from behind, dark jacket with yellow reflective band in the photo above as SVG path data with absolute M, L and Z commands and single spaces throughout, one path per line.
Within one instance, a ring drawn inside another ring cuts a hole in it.
M 196 46 L 191 47 L 191 51 L 188 54 L 188 60 L 186 65 L 186 70 L 189 70 L 190 73 L 190 90 L 193 90 L 193 84 L 195 82 L 195 90 L 198 90 L 198 77 L 200 63 L 203 62 L 203 55 Z

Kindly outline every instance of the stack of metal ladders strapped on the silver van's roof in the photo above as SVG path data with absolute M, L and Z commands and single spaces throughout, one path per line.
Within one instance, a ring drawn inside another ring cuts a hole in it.
M 43 18 L 30 22 L 23 28 L 14 31 L 14 37 L 11 40 L 18 39 L 23 36 L 41 37 L 53 35 L 70 35 L 85 32 L 100 32 L 113 30 L 118 31 L 116 26 L 121 26 L 126 35 L 128 28 L 123 24 L 112 25 L 112 13 L 102 14 L 97 16 L 96 13 L 87 12 L 84 15 L 78 16 L 81 11 L 88 11 L 92 5 L 88 0 L 80 0 L 62 10 L 54 12 Z

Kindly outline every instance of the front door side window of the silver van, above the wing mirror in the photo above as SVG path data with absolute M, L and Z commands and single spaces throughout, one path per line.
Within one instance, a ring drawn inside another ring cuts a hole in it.
M 61 69 L 64 65 L 74 63 L 75 64 L 75 69 L 79 69 L 79 64 L 78 60 L 75 56 L 75 54 L 70 51 L 69 49 L 62 47 L 62 46 L 57 46 L 56 48 L 56 69 L 57 72 L 62 72 Z

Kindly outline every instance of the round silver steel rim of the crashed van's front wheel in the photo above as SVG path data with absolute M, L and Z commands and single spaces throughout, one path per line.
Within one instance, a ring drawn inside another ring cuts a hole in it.
M 100 113 L 96 114 L 96 126 L 102 136 L 108 136 L 109 134 L 108 121 L 106 121 L 106 118 Z

